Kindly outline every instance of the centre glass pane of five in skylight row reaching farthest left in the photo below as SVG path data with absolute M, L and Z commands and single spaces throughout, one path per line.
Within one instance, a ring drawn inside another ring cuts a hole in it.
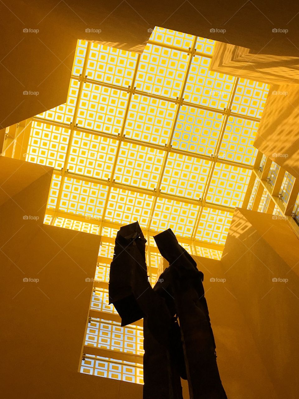
M 153 190 L 159 182 L 165 151 L 122 142 L 115 170 L 115 180 L 129 186 Z

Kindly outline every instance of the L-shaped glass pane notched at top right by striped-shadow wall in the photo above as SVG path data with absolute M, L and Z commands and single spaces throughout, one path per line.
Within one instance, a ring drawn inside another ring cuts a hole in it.
M 195 55 L 191 62 L 184 100 L 204 107 L 227 108 L 235 77 L 209 70 L 211 58 Z

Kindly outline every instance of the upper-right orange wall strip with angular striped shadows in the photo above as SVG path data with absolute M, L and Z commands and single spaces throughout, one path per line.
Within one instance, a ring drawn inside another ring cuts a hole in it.
M 256 52 L 217 42 L 210 70 L 269 84 L 298 84 L 299 57 Z

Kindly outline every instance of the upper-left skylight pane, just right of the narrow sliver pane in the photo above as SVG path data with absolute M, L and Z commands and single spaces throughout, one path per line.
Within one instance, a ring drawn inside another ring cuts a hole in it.
M 132 85 L 137 59 L 136 53 L 91 43 L 86 75 L 88 79 L 128 87 Z

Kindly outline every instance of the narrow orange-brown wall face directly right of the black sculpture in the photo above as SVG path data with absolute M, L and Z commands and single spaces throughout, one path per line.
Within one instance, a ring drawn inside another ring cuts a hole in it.
M 222 263 L 201 257 L 194 259 L 198 269 L 204 273 L 203 284 L 216 342 L 217 363 L 228 398 L 280 398 L 242 308 L 228 285 Z

